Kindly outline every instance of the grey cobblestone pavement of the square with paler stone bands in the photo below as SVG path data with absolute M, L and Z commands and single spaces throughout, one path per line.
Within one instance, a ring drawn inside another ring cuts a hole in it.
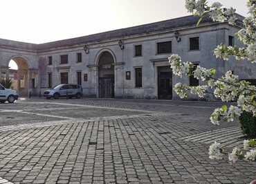
M 241 146 L 218 102 L 19 100 L 0 104 L 0 183 L 250 183 L 256 163 L 210 160 Z

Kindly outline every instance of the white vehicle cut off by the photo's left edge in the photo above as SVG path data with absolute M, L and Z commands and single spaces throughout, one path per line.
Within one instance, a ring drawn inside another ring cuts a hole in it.
M 13 89 L 6 89 L 2 84 L 0 84 L 0 103 L 6 102 L 6 100 L 9 103 L 15 102 L 15 100 L 18 100 L 19 95 L 17 91 Z

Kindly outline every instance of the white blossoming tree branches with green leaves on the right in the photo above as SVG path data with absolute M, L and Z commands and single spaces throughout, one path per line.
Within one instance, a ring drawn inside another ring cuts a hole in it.
M 248 17 L 244 19 L 244 28 L 236 34 L 237 39 L 244 44 L 244 47 L 226 46 L 221 44 L 214 49 L 217 58 L 228 60 L 235 57 L 237 60 L 247 60 L 256 62 L 256 0 L 248 0 Z M 198 24 L 205 16 L 210 16 L 213 21 L 228 22 L 235 25 L 237 17 L 235 9 L 223 8 L 221 3 L 215 2 L 208 5 L 206 0 L 186 0 L 185 7 L 188 12 L 201 17 Z M 239 80 L 239 76 L 233 75 L 232 71 L 227 71 L 225 75 L 217 78 L 214 68 L 203 68 L 197 66 L 193 70 L 192 62 L 183 62 L 179 55 L 169 57 L 169 62 L 174 75 L 179 77 L 194 75 L 201 80 L 203 85 L 188 86 L 177 83 L 174 90 L 180 98 L 188 98 L 188 93 L 198 95 L 199 98 L 205 97 L 206 93 L 212 93 L 215 98 L 222 102 L 237 102 L 237 105 L 230 105 L 215 109 L 210 120 L 214 125 L 219 125 L 221 120 L 232 122 L 239 118 L 243 111 L 252 113 L 256 117 L 256 88 L 250 82 Z M 239 159 L 256 160 L 256 140 L 244 140 L 244 148 L 235 147 L 232 153 L 228 154 L 230 161 L 236 162 Z M 209 154 L 211 159 L 223 159 L 224 151 L 219 142 L 210 145 Z

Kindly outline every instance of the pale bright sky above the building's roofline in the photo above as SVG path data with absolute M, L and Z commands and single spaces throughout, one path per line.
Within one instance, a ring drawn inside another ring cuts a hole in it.
M 246 1 L 219 2 L 246 15 Z M 0 7 L 0 38 L 31 43 L 80 37 L 188 15 L 185 0 L 1 0 Z

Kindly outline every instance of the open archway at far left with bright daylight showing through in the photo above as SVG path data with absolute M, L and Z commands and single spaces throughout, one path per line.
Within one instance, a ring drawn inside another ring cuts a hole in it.
M 14 57 L 8 64 L 7 77 L 12 80 L 12 89 L 18 91 L 20 96 L 28 96 L 28 63 L 23 57 Z

